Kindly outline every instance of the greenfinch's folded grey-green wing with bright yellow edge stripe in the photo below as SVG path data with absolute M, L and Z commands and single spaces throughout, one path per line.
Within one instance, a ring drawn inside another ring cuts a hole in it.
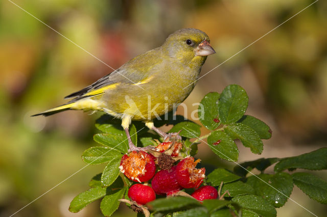
M 97 82 L 83 88 L 80 91 L 69 94 L 65 98 L 75 97 L 70 102 L 82 98 L 104 94 L 106 90 L 115 89 L 121 84 L 140 85 L 148 82 L 154 68 L 162 61 L 157 58 L 158 50 L 150 50 L 128 61 L 119 69 L 107 74 Z M 149 62 L 150 60 L 150 62 Z

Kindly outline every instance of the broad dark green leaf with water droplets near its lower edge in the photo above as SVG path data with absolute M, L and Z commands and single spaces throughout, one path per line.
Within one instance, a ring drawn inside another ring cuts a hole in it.
M 260 179 L 253 178 L 256 195 L 262 196 L 275 207 L 284 206 L 293 190 L 292 176 L 288 173 L 276 173 L 260 174 L 258 177 Z

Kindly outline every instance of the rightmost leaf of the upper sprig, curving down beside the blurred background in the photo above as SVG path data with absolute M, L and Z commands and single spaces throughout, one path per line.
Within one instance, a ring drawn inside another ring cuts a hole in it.
M 254 118 L 250 115 L 244 115 L 239 121 L 239 123 L 248 125 L 256 133 L 258 133 L 261 139 L 268 140 L 271 138 L 271 129 L 270 127 L 263 121 L 259 120 L 258 118 Z

